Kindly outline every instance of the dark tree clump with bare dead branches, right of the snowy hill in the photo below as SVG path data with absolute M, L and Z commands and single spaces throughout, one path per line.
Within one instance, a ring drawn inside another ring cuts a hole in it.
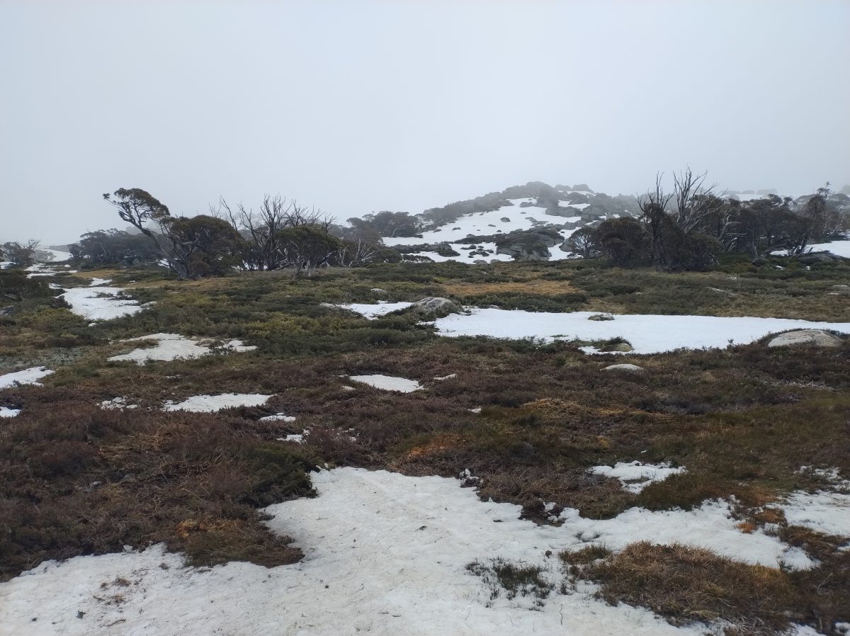
M 847 230 L 850 197 L 833 194 L 829 184 L 796 200 L 769 195 L 742 202 L 717 196 L 713 187 L 704 187 L 705 179 L 705 173 L 686 170 L 676 175 L 670 193 L 657 179 L 655 190 L 639 199 L 637 218 L 576 230 L 567 247 L 621 267 L 706 270 L 718 253 L 754 259 L 779 250 L 799 255 L 809 244 L 841 238 Z

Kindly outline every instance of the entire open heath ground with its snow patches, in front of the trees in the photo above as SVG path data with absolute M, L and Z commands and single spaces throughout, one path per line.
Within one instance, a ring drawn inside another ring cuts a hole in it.
M 0 633 L 841 633 L 848 281 L 4 269 Z

